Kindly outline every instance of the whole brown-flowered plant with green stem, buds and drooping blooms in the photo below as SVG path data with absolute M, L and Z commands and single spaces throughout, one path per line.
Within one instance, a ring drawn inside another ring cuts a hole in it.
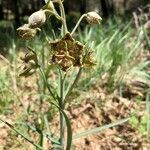
M 54 140 L 53 137 L 47 134 L 47 138 L 52 142 L 53 148 L 59 149 L 71 149 L 72 143 L 72 129 L 70 120 L 65 113 L 66 99 L 71 93 L 72 89 L 76 85 L 78 79 L 80 78 L 82 68 L 85 66 L 93 66 L 95 61 L 92 58 L 91 52 L 89 52 L 84 44 L 74 39 L 73 35 L 79 26 L 82 19 L 86 19 L 90 24 L 99 24 L 101 17 L 96 12 L 88 12 L 83 14 L 79 21 L 77 22 L 74 29 L 69 32 L 66 24 L 65 10 L 62 0 L 45 0 L 46 5 L 40 10 L 34 12 L 28 18 L 28 23 L 17 29 L 18 35 L 23 40 L 31 40 L 40 31 L 41 26 L 46 22 L 47 16 L 55 16 L 61 23 L 61 38 L 54 41 L 49 41 L 50 51 L 52 53 L 51 58 L 49 58 L 49 64 L 56 66 L 59 72 L 59 89 L 54 91 L 54 88 L 49 85 L 48 78 L 45 74 L 46 68 L 43 68 L 40 64 L 40 58 L 36 51 L 28 47 L 28 53 L 21 58 L 23 65 L 21 67 L 20 76 L 28 77 L 39 70 L 43 78 L 43 82 L 47 87 L 50 97 L 53 101 L 49 101 L 60 112 L 60 137 L 58 140 Z M 55 4 L 59 5 L 60 14 L 55 9 Z M 78 67 L 78 72 L 74 81 L 65 86 L 65 81 L 67 80 L 68 72 L 72 70 L 73 67 Z M 65 142 L 65 128 L 67 129 L 67 138 Z M 18 132 L 17 132 L 18 133 Z M 20 134 L 20 133 L 18 133 Z M 20 134 L 22 135 L 22 134 Z M 43 135 L 43 133 L 42 133 Z M 41 135 L 41 136 L 42 136 Z M 37 149 L 43 149 L 43 145 L 35 144 L 28 138 L 22 135 L 27 141 L 32 143 Z M 42 143 L 42 142 L 41 142 Z

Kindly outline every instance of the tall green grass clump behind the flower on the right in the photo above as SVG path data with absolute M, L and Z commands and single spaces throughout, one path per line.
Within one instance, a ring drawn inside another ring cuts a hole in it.
M 110 89 L 126 82 L 127 77 L 139 77 L 150 85 L 150 61 L 140 58 L 140 54 L 147 53 L 148 49 L 142 47 L 140 31 L 132 26 L 132 22 L 123 25 L 109 20 L 105 25 L 79 31 L 79 39 L 96 54 L 97 65 L 90 74 L 91 80 L 106 76 Z

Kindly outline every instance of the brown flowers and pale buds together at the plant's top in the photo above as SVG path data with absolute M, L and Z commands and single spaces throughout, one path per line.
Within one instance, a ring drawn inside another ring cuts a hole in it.
M 72 35 L 83 18 L 85 18 L 90 24 L 99 24 L 102 20 L 101 17 L 96 12 L 88 12 L 83 14 L 73 31 L 69 33 L 66 25 L 66 17 L 57 13 L 53 5 L 54 2 L 58 4 L 62 3 L 60 0 L 48 1 L 48 3 L 42 9 L 34 12 L 31 16 L 29 16 L 28 23 L 17 29 L 19 37 L 24 40 L 30 40 L 35 37 L 37 31 L 40 30 L 40 27 L 46 21 L 45 13 L 50 13 L 59 19 L 63 26 L 63 37 L 50 42 L 52 50 L 52 58 L 50 62 L 58 65 L 65 72 L 68 71 L 72 66 L 79 67 L 94 65 L 95 63 L 93 61 L 92 53 L 89 52 L 85 54 L 85 45 L 79 41 L 76 41 Z M 61 5 L 60 8 L 62 9 Z M 24 58 L 22 58 L 22 61 L 24 64 L 20 76 L 29 76 L 33 74 L 38 67 L 37 55 L 32 50 L 30 50 L 30 52 L 27 53 Z

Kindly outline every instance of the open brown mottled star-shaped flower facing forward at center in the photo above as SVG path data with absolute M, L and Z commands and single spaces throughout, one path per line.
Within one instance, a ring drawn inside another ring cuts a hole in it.
M 75 41 L 70 33 L 62 39 L 50 43 L 53 56 L 52 63 L 59 65 L 63 71 L 71 66 L 81 66 L 84 45 Z

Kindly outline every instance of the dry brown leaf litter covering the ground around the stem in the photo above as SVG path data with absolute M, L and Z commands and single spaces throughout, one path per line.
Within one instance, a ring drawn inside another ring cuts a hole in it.
M 22 88 L 25 89 L 18 93 L 20 102 L 14 101 L 10 104 L 9 109 L 11 113 L 7 115 L 1 115 L 1 118 L 7 122 L 15 125 L 16 120 L 24 116 L 27 122 L 36 123 L 37 116 L 27 116 L 25 110 L 30 109 L 36 113 L 40 108 L 37 107 L 37 95 L 35 95 L 36 84 L 31 83 L 34 81 L 34 77 L 22 79 Z M 24 81 L 24 82 L 23 82 Z M 31 92 L 32 91 L 32 92 Z M 130 98 L 126 96 L 119 96 L 117 91 L 112 93 L 107 92 L 101 88 L 101 85 L 97 83 L 92 85 L 90 90 L 84 94 L 78 96 L 77 100 L 67 105 L 67 111 L 69 118 L 71 119 L 72 129 L 74 135 L 76 133 L 83 132 L 95 127 L 100 127 L 106 124 L 116 122 L 119 119 L 127 118 L 131 114 L 135 113 L 138 123 L 133 124 L 132 119 L 121 125 L 111 127 L 101 132 L 97 132 L 94 135 L 81 137 L 73 141 L 73 149 L 75 150 L 148 150 L 150 149 L 150 143 L 148 142 L 148 133 L 141 132 L 141 120 L 145 116 L 145 95 L 142 95 L 143 101 L 137 102 L 139 97 L 138 93 L 132 93 L 128 91 Z M 132 95 L 132 96 L 131 96 Z M 140 95 L 140 96 L 141 96 Z M 132 98 L 131 98 L 132 97 Z M 43 112 L 48 112 L 48 104 L 43 104 Z M 136 111 L 138 110 L 138 111 Z M 58 132 L 58 113 L 54 113 L 55 116 L 50 119 L 51 129 L 54 133 Z M 25 120 L 26 120 L 25 119 Z M 35 120 L 34 120 L 35 119 Z M 134 118 L 133 118 L 134 119 Z M 18 122 L 19 123 L 19 122 Z M 18 126 L 17 126 L 18 127 Z M 4 150 L 19 150 L 19 149 L 34 149 L 31 144 L 23 140 L 20 136 L 14 134 L 11 129 L 0 123 L 0 148 Z M 37 139 L 37 134 L 27 130 L 28 134 L 33 139 Z M 44 139 L 45 149 L 50 149 L 49 142 Z

